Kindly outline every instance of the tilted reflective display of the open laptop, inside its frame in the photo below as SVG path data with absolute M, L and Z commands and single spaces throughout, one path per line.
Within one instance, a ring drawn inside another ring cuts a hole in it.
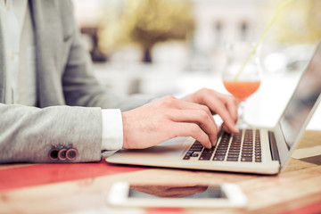
M 284 109 L 279 120 L 285 143 L 291 149 L 300 129 L 309 117 L 317 98 L 321 93 L 321 44 L 311 58 L 308 67 L 302 73 L 298 86 L 295 88 L 290 102 Z

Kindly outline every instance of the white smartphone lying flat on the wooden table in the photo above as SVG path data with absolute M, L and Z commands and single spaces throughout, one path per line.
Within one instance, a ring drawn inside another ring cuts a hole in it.
M 111 186 L 108 203 L 119 207 L 243 208 L 247 198 L 235 184 Z

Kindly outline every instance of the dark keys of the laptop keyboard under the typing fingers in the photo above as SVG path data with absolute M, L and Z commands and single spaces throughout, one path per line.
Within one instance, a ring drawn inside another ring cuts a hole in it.
M 243 129 L 238 134 L 223 132 L 218 143 L 206 149 L 198 141 L 185 153 L 183 160 L 261 162 L 261 143 L 258 129 Z

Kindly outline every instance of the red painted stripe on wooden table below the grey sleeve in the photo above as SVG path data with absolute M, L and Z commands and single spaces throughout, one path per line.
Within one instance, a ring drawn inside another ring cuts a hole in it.
M 91 163 L 46 163 L 0 169 L 0 191 L 144 170 L 143 167 Z

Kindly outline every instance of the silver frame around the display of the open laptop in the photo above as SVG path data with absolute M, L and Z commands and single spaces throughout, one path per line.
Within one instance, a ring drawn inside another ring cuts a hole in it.
M 318 43 L 317 48 L 315 50 L 315 53 L 310 58 L 309 63 L 307 63 L 307 66 L 304 69 L 304 71 L 302 72 L 301 77 L 309 69 L 309 65 L 312 62 L 312 60 L 314 59 L 314 57 L 316 56 L 316 53 L 318 53 L 320 51 L 321 51 L 321 42 Z M 301 78 L 299 79 L 299 82 L 298 82 L 297 86 L 293 90 L 292 97 L 293 97 L 295 91 L 297 90 L 297 88 L 299 86 L 300 80 L 301 80 Z M 292 97 L 289 100 L 289 102 L 292 100 Z M 305 130 L 306 130 L 308 124 L 309 124 L 309 120 L 312 118 L 314 112 L 317 110 L 317 106 L 318 106 L 318 104 L 320 102 L 321 102 L 321 95 L 318 96 L 316 103 L 314 103 L 311 111 L 309 112 L 309 115 L 308 115 L 307 119 L 305 119 L 302 127 L 300 128 L 300 132 L 298 133 L 297 137 L 295 138 L 294 143 L 292 144 L 292 147 L 290 148 L 290 150 L 288 148 L 288 145 L 285 142 L 284 133 L 283 133 L 283 130 L 281 128 L 281 119 L 283 118 L 284 112 L 286 111 L 286 108 L 288 107 L 289 103 L 284 108 L 284 111 L 283 111 L 281 117 L 278 119 L 278 121 L 276 123 L 276 127 L 274 128 L 274 133 L 275 133 L 275 136 L 276 136 L 276 145 L 277 145 L 277 149 L 278 149 L 278 153 L 279 153 L 279 157 L 280 157 L 281 169 L 284 168 L 284 165 L 290 159 L 292 152 L 295 150 L 297 145 L 300 143 L 300 138 L 304 134 L 304 132 L 305 132 Z

